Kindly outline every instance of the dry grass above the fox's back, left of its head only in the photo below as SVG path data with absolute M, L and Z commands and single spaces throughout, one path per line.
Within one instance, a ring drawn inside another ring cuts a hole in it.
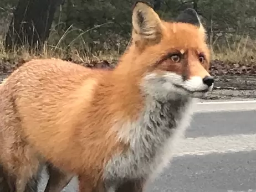
M 28 49 L 27 46 L 19 46 L 12 51 L 6 52 L 4 49 L 4 34 L 0 34 L 0 60 L 13 60 L 22 58 L 24 60 L 38 59 L 38 58 L 58 58 L 76 61 L 78 63 L 89 63 L 91 60 L 102 61 L 106 60 L 109 63 L 115 62 L 119 56 L 120 51 L 106 49 L 100 51 L 91 51 L 90 46 L 86 43 L 86 33 L 95 28 L 82 31 L 74 28 L 72 25 L 65 31 L 59 29 L 59 24 L 53 24 L 50 30 L 48 41 L 44 43 L 40 53 Z M 101 26 L 98 26 L 101 27 Z M 5 30 L 7 32 L 7 29 Z M 1 63 L 0 63 L 1 65 Z

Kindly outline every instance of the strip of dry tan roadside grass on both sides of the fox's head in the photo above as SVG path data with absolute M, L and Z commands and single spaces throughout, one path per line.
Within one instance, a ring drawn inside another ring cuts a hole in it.
M 35 51 L 28 51 L 23 46 L 12 52 L 6 53 L 4 51 L 4 38 L 0 35 L 0 59 L 19 59 L 30 60 L 35 58 L 59 58 L 69 59 L 72 61 L 78 61 L 79 63 L 89 63 L 91 60 L 101 61 L 107 60 L 109 63 L 115 63 L 120 56 L 119 50 L 111 51 L 98 51 L 98 53 L 92 53 L 88 44 L 83 39 L 83 35 L 78 34 L 76 38 L 65 44 L 65 38 L 69 32 L 66 31 L 61 37 L 58 36 L 55 30 L 52 30 L 50 38 L 47 43 L 44 44 L 43 50 L 38 54 Z M 82 32 L 83 34 L 85 32 Z M 79 42 L 79 43 L 77 43 Z M 69 51 L 66 51 L 66 47 L 69 46 Z M 212 50 L 212 59 L 218 59 L 221 61 L 230 61 L 231 63 L 254 63 L 254 56 L 256 55 L 256 41 L 250 39 L 248 36 L 235 36 L 232 38 L 218 39 L 214 41 L 210 48 Z M 1 63 L 0 63 L 1 65 Z

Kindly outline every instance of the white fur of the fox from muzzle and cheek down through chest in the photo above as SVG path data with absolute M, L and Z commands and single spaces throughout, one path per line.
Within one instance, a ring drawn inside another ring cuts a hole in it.
M 172 72 L 146 75 L 140 86 L 146 101 L 139 118 L 133 122 L 117 120 L 112 129 L 130 147 L 107 162 L 103 177 L 109 188 L 127 179 L 149 181 L 161 173 L 190 124 L 194 97 L 212 89 L 201 77 L 184 81 Z

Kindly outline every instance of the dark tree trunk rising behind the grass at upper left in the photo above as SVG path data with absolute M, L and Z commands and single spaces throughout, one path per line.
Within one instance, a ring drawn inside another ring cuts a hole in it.
M 63 0 L 19 0 L 14 11 L 5 47 L 29 45 L 41 48 L 48 39 L 54 13 Z

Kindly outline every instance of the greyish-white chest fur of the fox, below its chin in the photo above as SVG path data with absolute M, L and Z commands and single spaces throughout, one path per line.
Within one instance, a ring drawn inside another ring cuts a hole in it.
M 192 100 L 181 98 L 147 101 L 136 122 L 119 127 L 119 137 L 130 143 L 129 150 L 107 163 L 104 178 L 111 182 L 148 178 L 161 172 L 172 158 L 172 149 L 190 123 Z

